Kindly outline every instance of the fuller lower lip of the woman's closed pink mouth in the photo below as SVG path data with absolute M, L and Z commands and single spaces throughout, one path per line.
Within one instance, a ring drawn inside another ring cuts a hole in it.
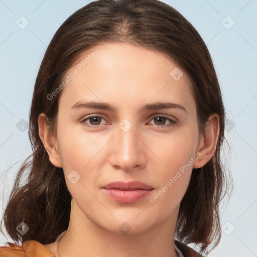
M 147 195 L 150 194 L 151 190 L 137 189 L 137 190 L 118 190 L 118 189 L 106 189 L 103 188 L 104 193 L 111 199 L 120 203 L 135 203 Z

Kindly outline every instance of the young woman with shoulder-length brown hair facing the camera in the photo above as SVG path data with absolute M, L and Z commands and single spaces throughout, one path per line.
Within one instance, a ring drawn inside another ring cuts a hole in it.
M 38 72 L 30 140 L 4 214 L 22 246 L 0 256 L 186 257 L 218 244 L 222 96 L 172 7 L 100 0 L 70 16 Z

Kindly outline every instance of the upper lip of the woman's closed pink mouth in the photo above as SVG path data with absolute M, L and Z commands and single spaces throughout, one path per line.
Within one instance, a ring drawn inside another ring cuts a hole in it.
M 140 181 L 114 181 L 109 184 L 104 185 L 102 188 L 105 189 L 120 189 L 120 190 L 136 190 L 136 189 L 145 189 L 151 190 L 153 187 L 140 182 Z

